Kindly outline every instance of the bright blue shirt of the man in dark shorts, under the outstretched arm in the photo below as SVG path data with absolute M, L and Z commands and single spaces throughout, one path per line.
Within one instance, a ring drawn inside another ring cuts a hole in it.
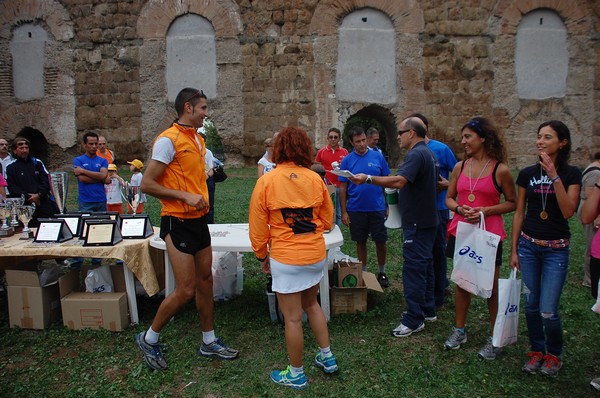
M 350 170 L 354 174 L 364 173 L 372 176 L 390 175 L 390 168 L 380 152 L 368 150 L 364 155 L 352 151 L 342 159 L 341 170 Z M 356 185 L 345 177 L 340 182 L 348 183 L 347 211 L 370 212 L 384 211 L 386 208 L 384 190 L 372 184 Z

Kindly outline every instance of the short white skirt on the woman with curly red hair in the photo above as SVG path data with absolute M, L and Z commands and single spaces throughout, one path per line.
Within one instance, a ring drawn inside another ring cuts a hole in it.
M 309 265 L 289 265 L 270 259 L 273 291 L 277 293 L 298 293 L 319 283 L 327 265 L 327 257 Z

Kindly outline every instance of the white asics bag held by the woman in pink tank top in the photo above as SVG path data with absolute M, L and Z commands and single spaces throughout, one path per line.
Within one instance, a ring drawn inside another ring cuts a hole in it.
M 450 280 L 470 293 L 490 298 L 500 236 L 486 231 L 483 213 L 480 216 L 479 226 L 458 222 Z

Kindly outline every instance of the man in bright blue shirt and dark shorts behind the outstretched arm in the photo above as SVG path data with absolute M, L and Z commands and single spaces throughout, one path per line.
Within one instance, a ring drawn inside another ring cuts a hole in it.
M 354 150 L 348 154 L 340 165 L 341 170 L 352 173 L 364 173 L 374 176 L 387 176 L 390 168 L 380 152 L 369 150 L 367 136 L 362 127 L 354 126 L 348 132 Z M 356 242 L 356 253 L 367 269 L 367 239 L 375 242 L 379 273 L 377 280 L 382 287 L 389 286 L 385 274 L 387 256 L 387 229 L 385 218 L 387 207 L 383 188 L 372 185 L 356 185 L 347 178 L 340 177 L 340 207 L 342 222 L 350 227 L 350 237 Z

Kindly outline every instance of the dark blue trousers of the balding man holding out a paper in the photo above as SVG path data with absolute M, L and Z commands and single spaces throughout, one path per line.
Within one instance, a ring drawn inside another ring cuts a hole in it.
M 418 327 L 425 316 L 435 316 L 433 297 L 433 244 L 437 228 L 403 226 L 402 283 L 406 313 L 402 323 L 411 329 Z

